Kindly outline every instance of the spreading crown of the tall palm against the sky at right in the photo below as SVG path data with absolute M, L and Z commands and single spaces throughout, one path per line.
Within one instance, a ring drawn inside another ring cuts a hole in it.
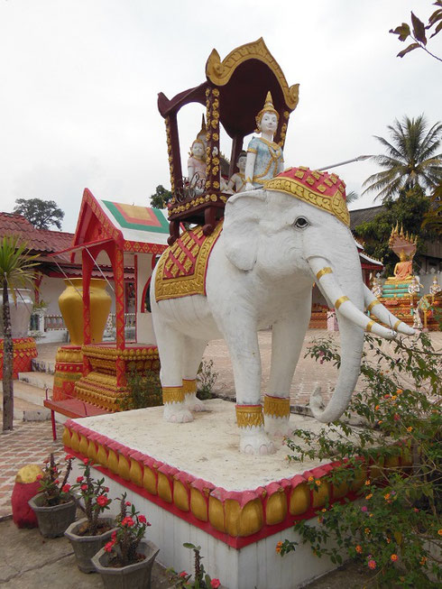
M 386 200 L 399 195 L 401 189 L 434 189 L 442 180 L 442 153 L 436 154 L 442 141 L 442 123 L 428 130 L 424 115 L 417 119 L 404 116 L 402 122 L 396 119 L 388 129 L 391 143 L 375 135 L 386 155 L 373 156 L 385 170 L 364 181 L 364 193 L 376 191 L 376 198 Z

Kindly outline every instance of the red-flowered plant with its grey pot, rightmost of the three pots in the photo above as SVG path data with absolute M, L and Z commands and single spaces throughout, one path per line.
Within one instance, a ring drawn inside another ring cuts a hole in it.
M 151 541 L 143 539 L 151 524 L 131 502 L 126 502 L 125 492 L 118 501 L 121 509 L 116 529 L 92 562 L 106 589 L 149 589 L 153 562 L 160 552 Z

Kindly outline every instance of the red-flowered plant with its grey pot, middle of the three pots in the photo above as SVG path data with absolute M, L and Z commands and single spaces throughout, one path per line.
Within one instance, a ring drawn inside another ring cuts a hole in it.
M 94 573 L 95 567 L 91 558 L 100 548 L 105 546 L 115 530 L 115 520 L 100 517 L 109 509 L 111 500 L 107 497 L 109 489 L 104 485 L 105 479 L 95 480 L 90 474 L 92 461 L 88 458 L 81 465 L 84 474 L 78 476 L 72 489 L 78 492 L 78 507 L 84 512 L 85 518 L 75 521 L 65 531 L 74 549 L 77 565 L 83 573 Z

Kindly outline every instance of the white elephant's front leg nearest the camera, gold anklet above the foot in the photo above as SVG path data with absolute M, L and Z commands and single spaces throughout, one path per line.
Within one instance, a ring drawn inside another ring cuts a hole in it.
M 264 431 L 261 405 L 261 357 L 256 327 L 231 318 L 225 327 L 226 344 L 234 369 L 236 421 L 240 451 L 244 454 L 273 454 L 276 449 Z

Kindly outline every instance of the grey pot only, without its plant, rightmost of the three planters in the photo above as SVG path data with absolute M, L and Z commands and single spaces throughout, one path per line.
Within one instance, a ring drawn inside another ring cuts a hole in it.
M 108 566 L 110 555 L 101 548 L 92 562 L 101 575 L 105 589 L 150 589 L 153 562 L 160 552 L 152 542 L 142 540 L 138 552 L 144 555 L 144 560 L 134 565 L 114 568 Z

